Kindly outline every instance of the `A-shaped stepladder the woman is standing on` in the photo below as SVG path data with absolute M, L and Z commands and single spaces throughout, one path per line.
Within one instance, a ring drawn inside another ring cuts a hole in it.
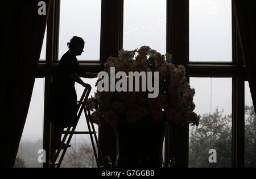
M 98 143 L 97 132 L 95 130 L 94 124 L 91 121 L 90 110 L 88 108 L 88 104 L 86 103 L 91 87 L 85 88 L 80 101 L 78 101 L 75 114 L 72 115 L 72 119 L 70 120 L 67 130 L 63 131 L 63 138 L 61 139 L 61 144 L 59 148 L 51 148 L 51 155 L 49 155 L 49 159 L 47 160 L 47 166 L 49 168 L 60 168 L 61 163 L 63 162 L 64 156 L 68 150 L 67 147 L 63 147 L 64 144 L 69 145 L 71 143 L 73 135 L 89 135 L 90 141 L 93 148 L 94 157 L 97 163 L 98 168 L 104 167 L 104 159 L 102 156 L 100 144 Z M 77 123 L 84 111 L 86 125 L 88 131 L 76 131 Z M 92 159 L 93 160 L 93 159 Z M 101 163 L 100 164 L 100 160 Z

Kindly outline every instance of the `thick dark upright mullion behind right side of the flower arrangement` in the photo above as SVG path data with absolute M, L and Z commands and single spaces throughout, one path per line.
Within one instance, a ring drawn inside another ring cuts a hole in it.
M 188 63 L 188 0 L 167 0 L 167 53 L 175 65 Z M 175 167 L 188 167 L 188 124 L 172 126 L 168 131 L 168 156 L 175 158 Z M 170 161 L 168 159 L 168 161 Z

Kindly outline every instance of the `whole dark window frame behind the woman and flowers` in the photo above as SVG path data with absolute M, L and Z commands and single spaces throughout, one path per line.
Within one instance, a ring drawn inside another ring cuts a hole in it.
M 230 0 L 231 1 L 231 0 Z M 47 122 L 49 86 L 52 76 L 57 72 L 59 45 L 60 0 L 51 1 L 47 22 L 46 61 L 39 61 L 36 77 L 45 77 L 44 97 L 44 134 L 43 144 L 48 159 L 51 152 L 51 124 Z M 166 52 L 172 53 L 173 63 L 185 65 L 187 78 L 190 77 L 232 77 L 232 167 L 244 166 L 244 82 L 246 81 L 245 66 L 242 60 L 241 47 L 238 39 L 236 19 L 232 7 L 232 62 L 197 62 L 189 61 L 189 0 L 167 0 L 167 44 Z M 123 41 L 123 0 L 102 0 L 101 5 L 101 40 L 100 61 L 80 61 L 87 72 L 98 73 L 102 70 L 105 59 L 118 56 Z M 99 128 L 99 141 L 102 152 L 113 151 L 116 143 L 110 143 L 114 133 L 109 129 Z M 179 140 L 175 140 L 179 136 Z M 189 126 L 171 127 L 166 135 L 166 166 L 172 157 L 176 159 L 175 167 L 188 167 Z M 171 147 L 174 146 L 174 147 Z M 43 165 L 43 167 L 47 167 Z

